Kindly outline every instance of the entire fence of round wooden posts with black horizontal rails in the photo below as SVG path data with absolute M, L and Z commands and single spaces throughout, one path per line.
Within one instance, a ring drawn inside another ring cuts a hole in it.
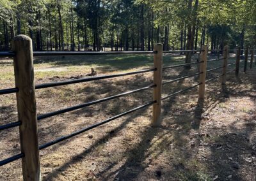
M 5 124 L 0 126 L 0 131 L 4 129 L 10 129 L 12 127 L 19 126 L 19 133 L 20 133 L 20 154 L 15 156 L 9 157 L 0 161 L 0 166 L 4 164 L 11 163 L 17 159 L 22 159 L 22 173 L 24 180 L 41 180 L 41 173 L 40 173 L 40 156 L 39 151 L 50 147 L 60 141 L 67 140 L 68 138 L 72 138 L 77 134 L 84 133 L 89 131 L 95 127 L 101 126 L 102 124 L 106 124 L 111 122 L 112 120 L 118 119 L 127 115 L 129 113 L 135 112 L 137 110 L 141 110 L 142 108 L 147 108 L 148 106 L 152 106 L 152 126 L 159 126 L 161 124 L 161 102 L 165 99 L 171 98 L 181 92 L 188 91 L 195 87 L 199 87 L 198 98 L 204 100 L 205 97 L 205 83 L 211 82 L 217 78 L 221 78 L 221 83 L 225 84 L 227 81 L 227 74 L 236 71 L 236 75 L 239 74 L 239 64 L 240 64 L 240 52 L 241 49 L 237 48 L 237 55 L 236 55 L 236 63 L 228 64 L 228 59 L 230 58 L 228 46 L 226 46 L 223 50 L 208 50 L 207 46 L 202 46 L 202 50 L 184 50 L 184 51 L 163 51 L 163 45 L 157 44 L 154 47 L 154 51 L 148 52 L 33 52 L 32 50 L 32 41 L 28 36 L 19 35 L 16 36 L 13 40 L 13 52 L 0 52 L 0 57 L 13 57 L 14 62 L 14 71 L 15 71 L 15 87 L 10 89 L 2 89 L 0 90 L 1 94 L 12 94 L 16 93 L 17 98 L 17 109 L 18 109 L 18 121 L 12 122 L 10 124 Z M 223 53 L 223 58 L 220 59 L 211 59 L 207 60 L 207 54 L 209 51 L 219 51 Z M 244 71 L 246 71 L 247 61 L 248 61 L 248 48 L 246 49 L 246 60 L 244 61 Z M 166 53 L 179 53 L 179 52 L 200 52 L 200 61 L 198 62 L 190 62 L 186 64 L 179 64 L 174 66 L 166 66 L 163 67 L 163 54 Z M 253 50 L 251 51 L 251 62 L 250 68 L 253 66 Z M 154 67 L 151 69 L 143 69 L 140 71 L 132 71 L 128 73 L 118 73 L 114 75 L 102 75 L 102 76 L 92 76 L 88 78 L 80 78 L 77 80 L 66 80 L 60 82 L 50 82 L 50 83 L 43 83 L 40 85 L 35 85 L 34 82 L 34 67 L 33 67 L 33 56 L 47 56 L 47 55 L 105 55 L 105 54 L 154 54 Z M 232 57 L 233 58 L 233 57 Z M 221 61 L 223 60 L 223 66 L 213 69 L 207 69 L 207 62 L 213 61 Z M 168 80 L 166 82 L 162 82 L 162 73 L 168 69 L 173 68 L 180 68 L 199 64 L 200 70 L 199 73 L 195 73 L 193 75 L 186 75 L 180 78 L 175 78 L 173 80 Z M 232 69 L 232 71 L 227 72 L 228 66 L 233 66 L 236 64 L 236 68 Z M 214 76 L 206 80 L 206 74 L 217 70 L 222 69 L 221 75 Z M 115 78 L 120 76 L 128 76 L 128 75 L 138 75 L 141 73 L 148 73 L 153 72 L 153 84 L 148 85 L 147 87 L 143 87 L 140 89 L 136 89 L 133 91 L 124 92 L 122 94 L 117 94 L 115 96 L 110 96 L 108 98 L 98 99 L 95 101 L 91 101 L 88 103 L 83 103 L 81 105 L 71 106 L 68 108 L 63 108 L 61 110 L 57 110 L 50 113 L 45 113 L 43 115 L 36 114 L 36 98 L 35 98 L 35 91 L 36 89 L 46 89 L 48 87 L 56 87 L 61 85 L 69 85 L 73 83 L 81 83 L 81 82 L 90 82 L 95 80 L 102 80 L 107 78 Z M 179 80 L 184 80 L 186 78 L 191 78 L 199 76 L 199 83 L 188 87 L 186 89 L 182 89 L 177 92 L 173 92 L 168 96 L 162 97 L 162 86 L 167 83 L 177 82 Z M 115 98 L 120 98 L 122 96 L 126 96 L 129 94 L 133 94 L 135 92 L 141 92 L 148 89 L 153 89 L 153 100 L 148 102 L 145 105 L 137 106 L 132 110 L 129 110 L 124 113 L 120 113 L 111 117 L 109 119 L 103 120 L 92 126 L 84 127 L 74 133 L 62 136 L 57 138 L 56 140 L 52 140 L 48 143 L 44 143 L 43 145 L 38 145 L 38 126 L 37 122 L 41 119 L 46 119 L 48 117 L 52 117 L 55 115 L 59 115 L 61 113 L 71 112 L 77 109 L 84 108 L 86 106 L 95 105 L 98 103 L 102 103 L 104 101 L 108 101 Z

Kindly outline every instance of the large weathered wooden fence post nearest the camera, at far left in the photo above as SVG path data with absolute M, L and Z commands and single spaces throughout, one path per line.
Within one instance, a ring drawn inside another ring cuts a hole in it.
M 36 118 L 36 99 L 34 83 L 32 40 L 28 36 L 18 35 L 13 39 L 15 85 L 17 92 L 18 118 L 22 122 L 20 131 L 20 149 L 24 180 L 41 180 L 38 150 L 38 131 Z

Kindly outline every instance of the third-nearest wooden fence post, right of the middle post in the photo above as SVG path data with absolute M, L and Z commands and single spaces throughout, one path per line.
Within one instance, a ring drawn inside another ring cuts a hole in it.
M 199 85 L 199 99 L 204 99 L 205 94 L 205 78 L 206 78 L 206 69 L 207 69 L 207 54 L 208 54 L 208 48 L 206 45 L 202 45 L 201 48 L 201 59 L 200 61 L 204 61 L 200 64 L 200 85 Z

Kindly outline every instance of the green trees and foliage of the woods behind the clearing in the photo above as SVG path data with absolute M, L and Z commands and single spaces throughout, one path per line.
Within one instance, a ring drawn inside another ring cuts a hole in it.
M 60 27 L 66 47 L 73 38 L 76 47 L 78 42 L 87 47 L 94 43 L 97 50 L 102 46 L 129 45 L 131 48 L 131 45 L 141 46 L 141 42 L 147 47 L 148 41 L 150 44 L 164 43 L 166 38 L 168 47 L 179 49 L 180 33 L 188 30 L 190 25 L 198 29 L 197 34 L 193 34 L 198 36 L 198 45 L 204 29 L 205 43 L 207 41 L 209 47 L 212 44 L 216 48 L 242 44 L 255 46 L 256 43 L 255 0 L 2 0 L 0 45 L 10 43 L 13 29 L 19 29 L 18 20 L 21 33 L 30 36 L 34 33 L 33 41 L 39 41 L 40 34 L 43 47 L 49 47 L 50 40 L 52 46 L 58 47 L 55 44 L 60 41 Z M 74 34 L 70 24 L 74 26 Z

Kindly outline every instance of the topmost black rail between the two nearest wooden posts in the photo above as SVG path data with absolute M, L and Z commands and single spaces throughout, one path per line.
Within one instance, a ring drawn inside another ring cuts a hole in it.
M 157 54 L 155 51 L 131 51 L 131 52 L 33 52 L 36 56 L 65 56 L 65 55 L 120 55 L 120 54 Z

